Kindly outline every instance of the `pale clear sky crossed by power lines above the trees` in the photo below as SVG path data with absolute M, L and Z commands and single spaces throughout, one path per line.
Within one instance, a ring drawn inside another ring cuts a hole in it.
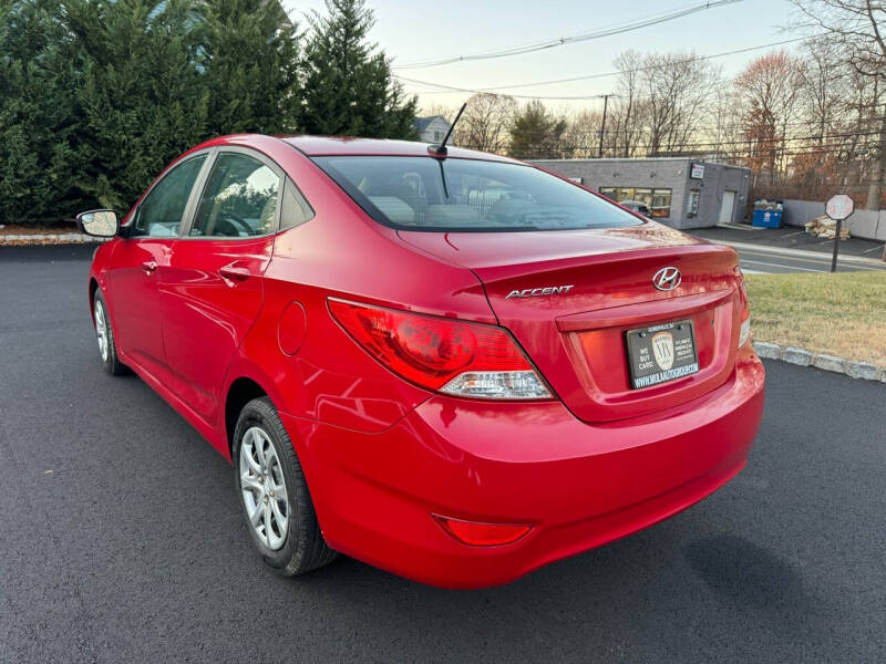
M 393 65 L 497 50 L 554 40 L 699 4 L 699 0 L 369 0 L 375 12 L 372 39 L 394 58 Z M 286 0 L 296 20 L 322 0 Z M 708 9 L 626 34 L 480 62 L 394 70 L 411 79 L 456 87 L 482 89 L 550 79 L 567 79 L 614 70 L 616 54 L 627 49 L 694 51 L 698 55 L 758 46 L 797 37 L 786 30 L 793 14 L 786 0 L 742 0 Z M 301 21 L 300 21 L 301 22 Z M 794 49 L 797 44 L 783 48 Z M 734 76 L 765 50 L 718 58 L 727 76 Z M 546 96 L 597 95 L 612 91 L 615 77 L 515 89 L 513 93 Z M 470 93 L 431 93 L 412 83 L 423 106 L 456 106 Z M 508 92 L 507 90 L 499 92 Z M 594 106 L 600 101 L 545 100 L 555 108 Z

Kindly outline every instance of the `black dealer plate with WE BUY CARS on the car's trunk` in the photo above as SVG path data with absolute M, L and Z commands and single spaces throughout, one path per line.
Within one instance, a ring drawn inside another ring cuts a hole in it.
M 633 390 L 676 381 L 699 371 L 696 329 L 691 320 L 628 330 L 625 344 Z

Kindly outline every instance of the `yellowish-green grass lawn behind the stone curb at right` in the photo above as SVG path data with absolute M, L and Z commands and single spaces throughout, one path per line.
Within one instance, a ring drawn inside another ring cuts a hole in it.
M 755 341 L 886 365 L 886 271 L 744 279 Z

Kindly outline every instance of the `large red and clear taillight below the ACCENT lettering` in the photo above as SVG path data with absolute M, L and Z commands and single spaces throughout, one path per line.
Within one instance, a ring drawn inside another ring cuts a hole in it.
M 503 328 L 333 299 L 329 311 L 370 355 L 421 387 L 476 398 L 552 398 Z

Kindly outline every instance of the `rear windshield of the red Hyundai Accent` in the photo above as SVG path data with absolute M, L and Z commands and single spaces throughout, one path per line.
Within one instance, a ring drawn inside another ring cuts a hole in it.
M 409 230 L 515 231 L 642 224 L 530 166 L 436 157 L 315 157 L 380 224 Z

